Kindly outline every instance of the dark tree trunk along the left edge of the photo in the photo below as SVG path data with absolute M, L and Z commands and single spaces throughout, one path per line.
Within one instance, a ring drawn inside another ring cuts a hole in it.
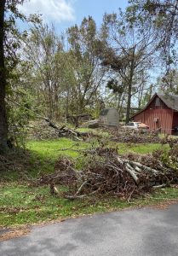
M 6 94 L 6 71 L 4 64 L 4 12 L 6 0 L 0 1 L 0 151 L 4 151 L 7 146 L 8 125 L 5 106 Z

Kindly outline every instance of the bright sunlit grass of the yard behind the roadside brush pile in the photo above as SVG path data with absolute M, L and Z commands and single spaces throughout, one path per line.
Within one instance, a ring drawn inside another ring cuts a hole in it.
M 114 143 L 109 142 L 106 144 L 110 147 L 118 147 L 119 154 L 127 153 L 137 153 L 137 154 L 146 154 L 152 153 L 157 149 L 166 149 L 169 148 L 168 145 L 161 145 L 158 143 L 148 143 L 148 144 L 127 144 L 127 143 Z M 84 148 L 96 148 L 99 146 L 99 143 L 95 140 L 86 143 L 86 142 L 73 142 L 67 138 L 60 138 L 59 140 L 54 141 L 32 141 L 26 144 L 27 148 L 32 152 L 38 154 L 42 159 L 50 158 L 56 160 L 60 155 L 66 155 L 67 157 L 77 158 L 81 155 L 80 152 L 74 151 L 75 149 L 84 149 Z M 72 148 L 68 150 L 61 150 L 64 148 Z M 74 150 L 73 150 L 74 149 Z

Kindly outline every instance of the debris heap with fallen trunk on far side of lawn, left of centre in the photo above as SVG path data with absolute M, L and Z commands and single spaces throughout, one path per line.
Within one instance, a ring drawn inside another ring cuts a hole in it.
M 55 139 L 59 137 L 71 137 L 76 140 L 82 140 L 85 137 L 89 137 L 88 132 L 72 130 L 71 128 L 67 128 L 66 125 L 59 127 L 49 119 L 33 122 L 30 127 L 29 135 L 30 138 L 37 140 Z

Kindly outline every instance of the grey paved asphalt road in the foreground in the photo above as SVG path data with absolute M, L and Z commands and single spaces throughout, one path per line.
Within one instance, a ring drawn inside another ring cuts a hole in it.
M 33 227 L 1 256 L 178 256 L 178 205 L 96 214 Z

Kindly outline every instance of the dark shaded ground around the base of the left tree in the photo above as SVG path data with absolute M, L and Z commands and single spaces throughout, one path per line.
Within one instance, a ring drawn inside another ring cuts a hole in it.
M 53 172 L 55 159 L 30 149 L 15 149 L 0 156 L 0 182 L 15 182 Z

